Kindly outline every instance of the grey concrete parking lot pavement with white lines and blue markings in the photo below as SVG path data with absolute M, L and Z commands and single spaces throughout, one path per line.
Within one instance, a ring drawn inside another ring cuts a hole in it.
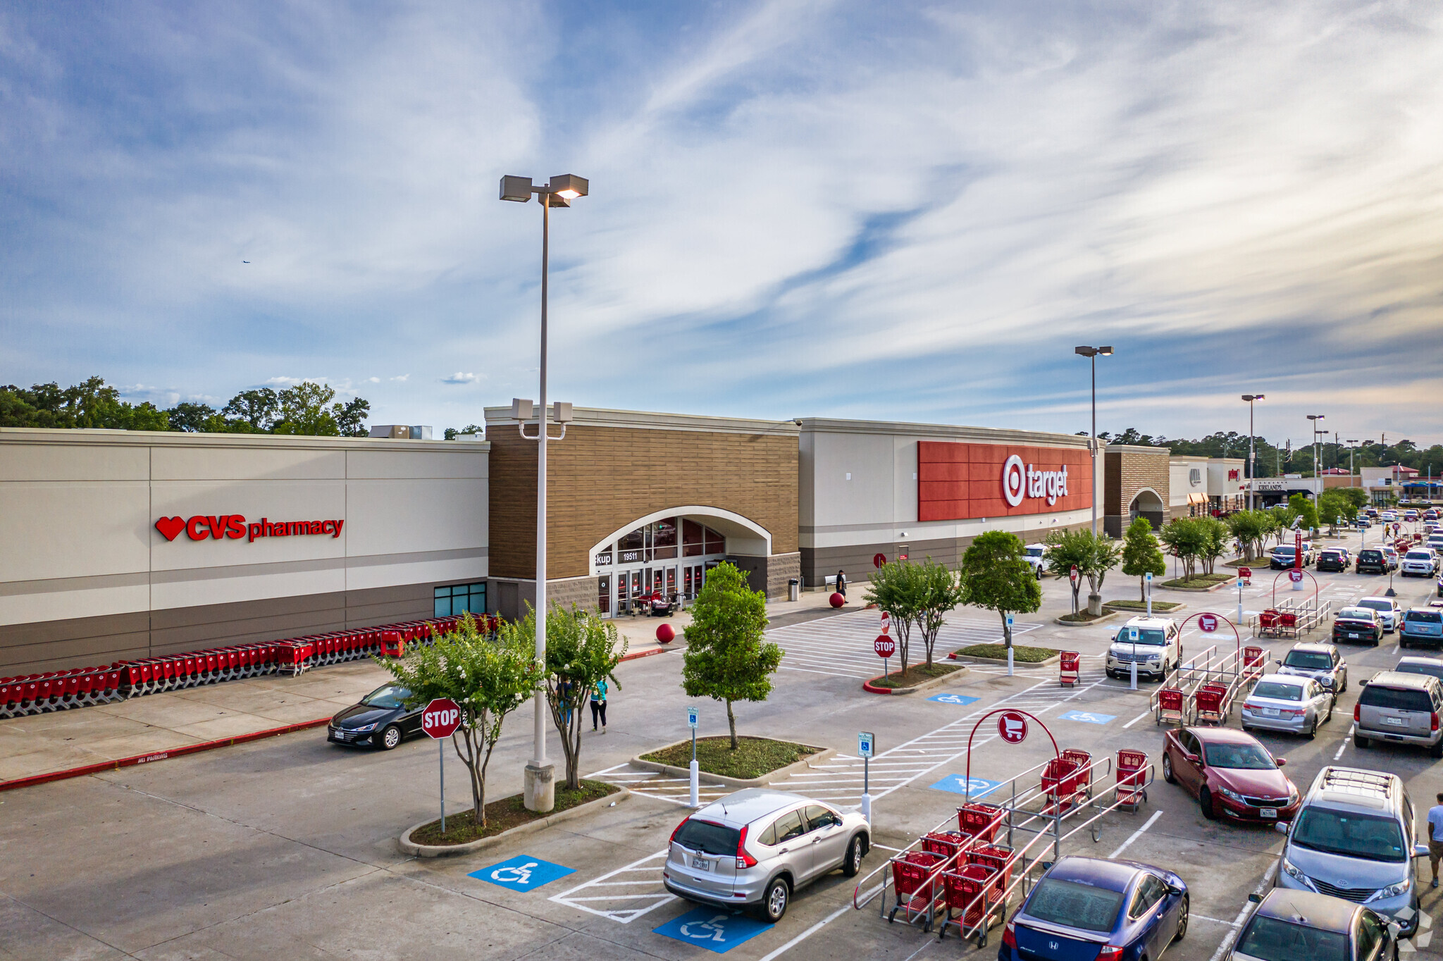
M 1356 544 L 1356 534 L 1346 544 Z M 1242 592 L 1244 610 L 1266 605 L 1273 579 L 1258 566 Z M 1134 580 L 1110 580 L 1105 596 L 1136 596 Z M 1387 579 L 1354 573 L 1317 574 L 1317 582 L 1335 610 L 1387 586 Z M 1283 587 L 1286 580 L 1280 593 Z M 1431 580 L 1395 579 L 1394 587 L 1404 607 L 1433 593 Z M 1157 592 L 1165 596 L 1186 603 L 1179 620 L 1201 610 L 1232 616 L 1238 605 L 1237 589 Z M 876 733 L 876 847 L 864 873 L 880 867 L 889 848 L 954 818 L 968 737 L 994 707 L 1038 716 L 1063 747 L 1084 747 L 1094 758 L 1137 747 L 1157 763 L 1162 733 L 1147 713 L 1156 684 L 1130 691 L 1126 680 L 1101 671 L 1123 619 L 1062 628 L 1052 618 L 1068 609 L 1065 584 L 1048 579 L 1045 597 L 1042 612 L 1020 618 L 1029 622 L 1023 642 L 1081 651 L 1076 687 L 1058 685 L 1056 665 L 1020 668 L 1014 677 L 986 667 L 919 694 L 866 694 L 859 677 L 880 672 L 870 652 L 876 615 L 851 609 L 773 632 L 788 651 L 786 670 L 765 704 L 737 704 L 739 730 L 837 749 L 779 786 L 844 808 L 860 802 L 856 732 Z M 957 612 L 944 635 L 949 646 L 939 644 L 939 652 L 997 638 L 1000 625 L 990 629 L 996 622 L 987 612 Z M 1326 639 L 1323 633 L 1307 639 Z M 1195 626 L 1183 635 L 1189 652 L 1212 642 Z M 1274 657 L 1291 645 L 1264 644 Z M 1397 661 L 1397 636 L 1375 649 L 1345 648 L 1345 657 L 1352 677 L 1367 678 Z M 856 885 L 840 872 L 799 892 L 775 926 L 668 895 L 659 870 L 667 838 L 685 815 L 685 785 L 628 760 L 685 736 L 690 701 L 678 677 L 677 654 L 623 664 L 609 733 L 584 740 L 584 771 L 625 784 L 631 797 L 468 857 L 417 860 L 397 847 L 401 830 L 436 812 L 436 749 L 426 740 L 381 753 L 329 746 L 323 730 L 304 732 L 0 795 L 0 957 L 693 958 L 698 949 L 749 961 L 993 957 L 996 932 L 978 954 L 955 936 L 939 942 L 935 932 L 889 925 L 876 900 L 854 910 Z M 1424 811 L 1443 789 L 1426 752 L 1354 747 L 1349 724 L 1359 687 L 1354 683 L 1341 695 L 1316 739 L 1264 733 L 1260 740 L 1287 758 L 1286 773 L 1300 789 L 1328 763 L 1392 771 Z M 701 707 L 700 733 L 723 733 L 724 708 Z M 1237 727 L 1237 711 L 1229 726 Z M 994 726 L 983 726 L 971 776 L 1006 782 L 1051 750 L 1040 732 L 1012 746 L 996 739 Z M 511 719 L 492 759 L 494 797 L 519 791 L 528 753 L 530 711 Z M 455 758 L 447 771 L 455 811 L 463 807 Z M 724 792 L 704 789 L 709 797 Z M 1218 961 L 1248 893 L 1271 883 L 1280 846 L 1267 827 L 1205 820 L 1190 797 L 1159 776 L 1139 812 L 1108 814 L 1098 841 L 1084 831 L 1063 853 L 1177 872 L 1190 889 L 1192 926 L 1167 957 Z M 1424 889 L 1424 910 L 1434 912 L 1437 899 L 1439 892 Z M 1420 947 L 1431 952 L 1421 939 Z

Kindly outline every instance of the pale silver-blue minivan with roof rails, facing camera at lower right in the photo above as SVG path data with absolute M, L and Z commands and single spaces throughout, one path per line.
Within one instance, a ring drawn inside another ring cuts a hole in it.
M 1277 830 L 1287 843 L 1274 886 L 1367 905 L 1397 921 L 1405 936 L 1413 934 L 1418 912 L 1413 859 L 1429 847 L 1417 843 L 1413 802 L 1398 775 L 1323 768 L 1297 817 Z

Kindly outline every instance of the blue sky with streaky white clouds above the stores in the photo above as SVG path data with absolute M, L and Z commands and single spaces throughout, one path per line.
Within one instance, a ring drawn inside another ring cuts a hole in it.
M 1443 442 L 1443 4 L 0 7 L 0 382 Z

